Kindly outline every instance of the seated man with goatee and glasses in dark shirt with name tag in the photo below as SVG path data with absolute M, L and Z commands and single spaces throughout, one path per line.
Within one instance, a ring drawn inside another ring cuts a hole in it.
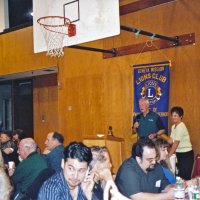
M 124 161 L 117 173 L 119 191 L 133 200 L 173 199 L 173 188 L 156 161 L 155 144 L 148 138 L 138 140 L 132 157 Z

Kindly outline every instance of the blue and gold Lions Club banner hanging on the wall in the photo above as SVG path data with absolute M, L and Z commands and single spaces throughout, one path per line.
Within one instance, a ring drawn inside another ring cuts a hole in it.
M 134 65 L 134 113 L 139 113 L 139 99 L 148 98 L 152 111 L 163 120 L 168 131 L 169 62 Z

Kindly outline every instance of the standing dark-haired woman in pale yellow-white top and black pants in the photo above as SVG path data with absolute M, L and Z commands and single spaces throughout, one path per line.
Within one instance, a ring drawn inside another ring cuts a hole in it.
M 172 147 L 169 151 L 169 156 L 176 153 L 178 176 L 184 180 L 191 179 L 191 173 L 194 163 L 194 152 L 190 142 L 190 136 L 185 124 L 182 122 L 183 108 L 173 107 L 171 109 L 171 119 L 173 122 L 171 128 L 171 143 Z

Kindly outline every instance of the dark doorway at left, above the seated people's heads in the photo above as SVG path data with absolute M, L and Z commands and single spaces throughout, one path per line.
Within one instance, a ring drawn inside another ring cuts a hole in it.
M 33 137 L 32 79 L 0 83 L 0 131 L 16 129 Z

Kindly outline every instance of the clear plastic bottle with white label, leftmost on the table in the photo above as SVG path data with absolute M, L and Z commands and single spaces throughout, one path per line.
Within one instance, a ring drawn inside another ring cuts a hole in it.
M 185 199 L 185 188 L 183 186 L 183 180 L 180 177 L 176 177 L 176 185 L 174 188 L 174 199 L 184 200 Z

